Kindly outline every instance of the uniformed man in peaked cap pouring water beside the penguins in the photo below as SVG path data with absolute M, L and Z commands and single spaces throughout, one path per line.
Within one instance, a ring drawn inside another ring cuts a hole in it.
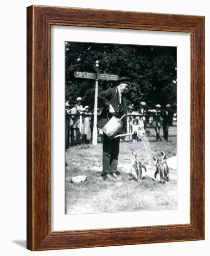
M 99 116 L 97 123 L 98 128 L 103 128 L 108 122 L 108 119 L 115 115 L 117 118 L 122 119 L 123 128 L 122 132 L 127 131 L 127 105 L 124 93 L 127 92 L 130 85 L 130 78 L 121 77 L 119 79 L 120 84 L 115 88 L 108 88 L 107 90 L 98 94 L 98 100 L 103 105 L 103 110 Z M 116 175 L 117 162 L 120 148 L 120 137 L 110 140 L 109 137 L 103 134 L 103 179 L 112 180 L 113 178 L 118 180 Z

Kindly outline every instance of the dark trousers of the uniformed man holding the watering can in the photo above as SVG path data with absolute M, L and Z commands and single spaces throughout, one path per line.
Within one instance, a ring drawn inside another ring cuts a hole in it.
M 110 140 L 103 134 L 103 174 L 116 172 L 119 149 L 120 137 Z

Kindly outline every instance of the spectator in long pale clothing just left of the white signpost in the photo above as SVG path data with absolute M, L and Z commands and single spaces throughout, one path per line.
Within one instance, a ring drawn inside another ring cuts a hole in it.
M 85 109 L 85 111 L 83 112 L 81 133 L 83 135 L 84 142 L 86 144 L 89 144 L 89 140 L 91 139 L 91 130 L 90 130 L 90 115 L 91 114 L 89 113 L 89 106 L 85 106 L 84 109 Z

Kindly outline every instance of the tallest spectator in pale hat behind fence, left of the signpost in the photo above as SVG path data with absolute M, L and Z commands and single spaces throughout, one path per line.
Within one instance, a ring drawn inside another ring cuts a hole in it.
M 81 112 L 85 110 L 83 108 L 83 105 L 81 105 L 81 101 L 82 101 L 82 98 L 77 97 L 74 108 L 71 108 L 71 115 L 72 115 L 71 118 L 73 121 L 71 125 L 71 146 L 81 143 L 80 135 L 81 135 L 81 128 L 82 128 L 82 115 L 79 115 L 79 114 L 81 114 Z M 74 131 L 76 131 L 76 141 L 74 140 Z

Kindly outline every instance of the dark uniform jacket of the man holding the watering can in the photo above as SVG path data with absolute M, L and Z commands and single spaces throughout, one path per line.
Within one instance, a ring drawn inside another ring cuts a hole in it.
M 120 118 L 122 115 L 126 114 L 123 119 L 123 128 L 122 131 L 126 133 L 127 131 L 127 105 L 126 105 L 126 98 L 122 94 L 121 99 L 121 107 L 120 107 L 120 101 L 119 101 L 119 92 L 117 87 L 115 88 L 108 88 L 107 90 L 101 92 L 98 94 L 98 100 L 103 105 L 103 110 L 101 115 L 99 116 L 97 127 L 103 128 L 104 125 L 108 122 L 108 118 L 111 118 L 112 115 L 109 113 L 109 104 L 112 105 L 112 107 L 115 109 L 115 117 Z M 108 114 L 108 118 L 107 118 Z

